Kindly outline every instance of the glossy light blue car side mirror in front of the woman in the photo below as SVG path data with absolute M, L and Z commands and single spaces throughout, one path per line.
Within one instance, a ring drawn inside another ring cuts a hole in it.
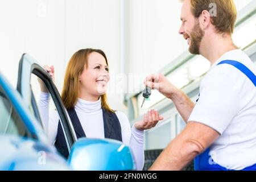
M 80 138 L 72 146 L 68 164 L 72 169 L 82 171 L 136 169 L 130 148 L 113 139 Z

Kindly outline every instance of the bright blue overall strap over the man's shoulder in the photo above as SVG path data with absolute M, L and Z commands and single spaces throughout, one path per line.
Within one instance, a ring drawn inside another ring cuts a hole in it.
M 253 72 L 250 71 L 249 68 L 247 68 L 242 63 L 240 63 L 238 61 L 234 61 L 234 60 L 224 60 L 224 61 L 221 61 L 220 63 L 218 63 L 217 65 L 220 65 L 220 64 L 233 65 L 234 67 L 239 69 L 243 74 L 245 74 L 251 80 L 251 82 L 253 82 L 254 86 L 256 86 L 256 76 L 254 75 Z

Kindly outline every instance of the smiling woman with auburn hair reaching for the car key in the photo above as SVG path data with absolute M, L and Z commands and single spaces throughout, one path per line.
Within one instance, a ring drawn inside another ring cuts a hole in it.
M 44 67 L 54 80 L 54 67 Z M 61 93 L 63 104 L 76 131 L 77 138 L 112 138 L 120 140 L 133 151 L 137 169 L 144 164 L 143 130 L 150 129 L 163 118 L 158 111 L 144 114 L 143 121 L 130 127 L 126 115 L 114 111 L 107 102 L 109 81 L 108 60 L 99 49 L 81 49 L 69 60 Z M 39 110 L 49 139 L 65 157 L 68 157 L 63 131 L 57 111 L 49 113 L 49 93 L 39 80 L 41 96 Z

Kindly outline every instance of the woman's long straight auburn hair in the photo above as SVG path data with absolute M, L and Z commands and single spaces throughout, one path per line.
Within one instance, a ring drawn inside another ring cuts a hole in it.
M 88 67 L 88 56 L 92 52 L 100 53 L 105 58 L 106 64 L 109 65 L 105 53 L 100 49 L 80 49 L 73 54 L 68 62 L 68 67 L 65 72 L 63 90 L 61 93 L 61 99 L 66 109 L 73 108 L 77 103 L 80 90 L 79 76 L 82 74 L 84 66 L 86 66 L 86 68 Z M 103 94 L 100 97 L 101 107 L 114 113 L 114 110 L 112 110 L 108 104 L 106 94 Z

